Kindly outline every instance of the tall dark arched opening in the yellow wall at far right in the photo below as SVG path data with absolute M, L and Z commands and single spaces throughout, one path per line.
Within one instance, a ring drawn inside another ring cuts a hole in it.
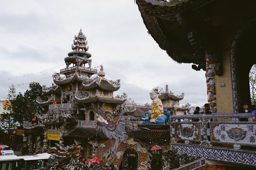
M 233 97 L 233 112 L 238 113 L 241 101 L 251 104 L 249 72 L 256 57 L 256 18 L 248 21 L 234 36 L 230 48 L 231 86 Z

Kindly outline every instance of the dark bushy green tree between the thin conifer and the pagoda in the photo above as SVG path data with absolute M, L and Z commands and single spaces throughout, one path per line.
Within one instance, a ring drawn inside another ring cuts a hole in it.
M 15 120 L 19 123 L 23 123 L 23 121 L 31 122 L 37 113 L 44 112 L 44 108 L 36 103 L 37 97 L 47 100 L 47 96 L 42 92 L 42 86 L 35 82 L 29 84 L 29 90 L 26 90 L 24 96 L 21 93 L 18 94 L 13 102 L 13 116 Z

